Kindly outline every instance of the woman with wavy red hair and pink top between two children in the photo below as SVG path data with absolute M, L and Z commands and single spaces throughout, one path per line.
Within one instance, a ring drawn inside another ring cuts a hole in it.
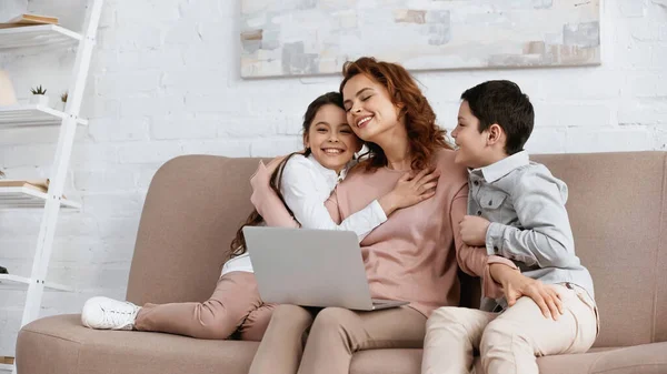
M 395 212 L 361 242 L 372 297 L 410 304 L 378 312 L 327 307 L 317 316 L 300 306 L 280 305 L 250 373 L 342 374 L 349 372 L 357 351 L 421 347 L 430 313 L 459 303 L 457 260 L 465 272 L 485 274 L 484 292 L 491 296 L 500 290 L 490 279 L 488 264 L 501 262 L 514 267 L 505 259 L 488 256 L 485 249 L 466 246 L 459 237 L 458 223 L 466 214 L 467 170 L 454 163 L 445 131 L 436 125 L 436 114 L 410 74 L 398 64 L 372 58 L 346 63 L 342 73 L 340 92 L 347 121 L 367 142 L 370 154 L 327 201 L 334 220 L 340 222 L 386 194 L 406 173 L 435 168 L 440 174 L 431 199 Z M 259 188 L 263 189 L 259 195 L 271 194 L 266 186 Z M 303 332 L 310 325 L 301 350 Z

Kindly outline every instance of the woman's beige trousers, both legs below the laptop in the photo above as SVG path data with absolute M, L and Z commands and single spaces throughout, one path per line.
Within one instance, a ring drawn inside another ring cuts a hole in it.
M 310 332 L 303 348 L 305 333 Z M 426 317 L 404 306 L 376 312 L 295 305 L 276 309 L 251 374 L 348 374 L 352 355 L 372 348 L 419 348 Z

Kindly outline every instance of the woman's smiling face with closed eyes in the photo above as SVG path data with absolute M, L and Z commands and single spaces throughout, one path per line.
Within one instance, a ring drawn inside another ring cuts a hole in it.
M 357 74 L 342 88 L 347 122 L 357 137 L 375 142 L 378 135 L 400 124 L 399 110 L 391 102 L 387 89 L 366 77 Z

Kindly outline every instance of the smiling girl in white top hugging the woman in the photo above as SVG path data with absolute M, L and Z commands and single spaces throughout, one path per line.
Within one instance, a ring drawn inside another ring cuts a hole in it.
M 302 153 L 290 154 L 271 176 L 273 191 L 285 199 L 287 208 L 303 228 L 352 230 L 361 240 L 396 209 L 409 206 L 434 193 L 437 174 L 405 178 L 391 192 L 337 225 L 323 202 L 345 178 L 355 152 L 361 148 L 361 142 L 346 123 L 339 93 L 323 94 L 308 105 L 303 117 L 303 145 Z M 246 225 L 261 221 L 262 218 L 253 212 Z M 296 225 L 289 215 L 286 221 L 287 225 Z M 227 338 L 238 331 L 241 340 L 259 341 L 273 305 L 262 303 L 259 297 L 240 229 L 231 251 L 233 257 L 225 264 L 212 296 L 203 303 L 146 304 L 140 307 L 98 296 L 83 305 L 81 322 L 91 328 L 155 331 L 199 338 Z

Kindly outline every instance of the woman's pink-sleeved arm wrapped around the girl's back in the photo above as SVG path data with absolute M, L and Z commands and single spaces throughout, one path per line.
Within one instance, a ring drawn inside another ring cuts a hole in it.
M 269 226 L 299 228 L 299 223 L 289 214 L 269 183 L 271 173 L 281 160 L 282 158 L 273 159 L 268 166 L 265 166 L 263 162 L 259 162 L 257 172 L 250 178 L 250 186 L 252 188 L 250 202 Z

